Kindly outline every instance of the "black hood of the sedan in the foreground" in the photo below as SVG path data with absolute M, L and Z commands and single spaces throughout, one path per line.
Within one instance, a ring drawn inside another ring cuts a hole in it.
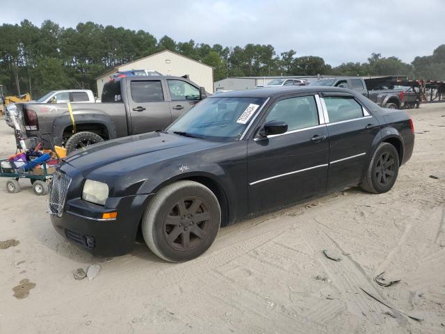
M 215 145 L 220 145 L 220 143 L 176 134 L 149 132 L 105 141 L 91 145 L 88 148 L 76 150 L 64 158 L 63 161 L 78 168 L 83 175 L 86 175 L 92 170 L 116 162 L 119 162 L 122 166 L 125 160 L 141 156 L 143 156 L 143 161 L 147 165 L 155 159 L 155 156 L 159 161 L 159 151 L 163 151 L 161 156 L 164 159 L 170 159 L 196 150 L 205 150 Z M 131 166 L 127 166 L 127 168 L 129 167 Z

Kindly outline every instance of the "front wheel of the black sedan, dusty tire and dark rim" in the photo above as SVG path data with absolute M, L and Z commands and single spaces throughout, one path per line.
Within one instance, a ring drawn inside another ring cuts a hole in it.
M 220 224 L 221 209 L 212 191 L 184 180 L 165 186 L 149 202 L 142 232 L 153 253 L 166 261 L 184 262 L 213 244 Z

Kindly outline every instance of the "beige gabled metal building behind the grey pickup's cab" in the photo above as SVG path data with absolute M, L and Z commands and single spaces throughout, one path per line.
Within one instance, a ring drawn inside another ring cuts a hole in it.
M 213 67 L 200 61 L 195 61 L 192 58 L 181 56 L 175 52 L 164 50 L 117 66 L 110 72 L 102 74 L 101 77 L 97 78 L 98 97 L 101 97 L 102 88 L 104 88 L 104 84 L 110 80 L 112 74 L 129 70 L 155 70 L 163 75 L 172 75 L 175 77 L 182 77 L 188 74 L 191 81 L 206 88 L 207 92 L 213 93 Z

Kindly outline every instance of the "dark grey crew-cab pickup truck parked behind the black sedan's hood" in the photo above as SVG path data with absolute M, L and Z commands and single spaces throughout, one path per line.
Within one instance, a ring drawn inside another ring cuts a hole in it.
M 165 129 L 207 97 L 184 77 L 122 77 L 109 81 L 102 103 L 17 104 L 22 131 L 29 137 L 51 133 L 55 145 L 72 152 L 99 141 Z M 49 145 L 44 144 L 45 148 Z

